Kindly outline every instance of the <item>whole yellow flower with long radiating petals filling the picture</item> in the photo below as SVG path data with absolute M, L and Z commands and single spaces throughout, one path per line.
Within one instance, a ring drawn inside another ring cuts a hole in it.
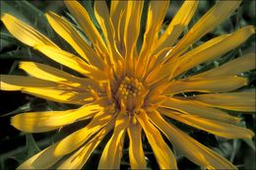
M 96 20 L 104 38 L 79 2 L 65 1 L 92 45 L 67 20 L 53 12 L 46 13 L 51 27 L 77 54 L 64 51 L 10 14 L 1 17 L 16 38 L 81 75 L 76 77 L 34 62 L 20 64 L 20 68 L 31 77 L 2 75 L 2 90 L 21 90 L 48 100 L 81 106 L 66 111 L 22 113 L 12 118 L 12 125 L 25 133 L 43 133 L 91 120 L 84 128 L 33 155 L 19 168 L 49 168 L 65 155 L 68 156 L 61 161 L 59 168 L 82 168 L 96 146 L 110 133 L 111 138 L 102 150 L 98 168 L 117 169 L 127 133 L 132 169 L 147 167 L 142 143 L 144 135 L 152 146 L 160 169 L 177 169 L 175 157 L 160 132 L 173 147 L 202 167 L 236 168 L 166 119 L 226 139 L 251 139 L 254 136 L 250 130 L 236 126 L 240 119 L 223 109 L 255 111 L 254 89 L 232 91 L 247 84 L 245 78 L 237 75 L 255 68 L 255 54 L 236 58 L 221 67 L 185 79 L 178 76 L 238 47 L 255 29 L 252 26 L 240 28 L 188 50 L 191 44 L 220 25 L 240 1 L 220 1 L 181 38 L 196 12 L 198 1 L 185 1 L 159 37 L 168 3 L 150 2 L 140 50 L 137 41 L 143 1 L 112 1 L 110 12 L 104 1 L 96 1 Z M 200 93 L 187 97 L 178 95 L 189 91 Z

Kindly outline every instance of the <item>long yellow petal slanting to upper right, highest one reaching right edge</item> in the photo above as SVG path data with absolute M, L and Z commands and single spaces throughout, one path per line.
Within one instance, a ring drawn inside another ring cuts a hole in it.
M 248 26 L 238 29 L 234 33 L 229 34 L 224 39 L 221 38 L 221 40 L 217 43 L 214 42 L 213 44 L 211 44 L 212 42 L 210 40 L 206 42 L 206 44 L 202 44 L 201 46 L 195 48 L 194 50 L 186 53 L 179 58 L 179 63 L 178 66 L 175 68 L 175 73 L 173 77 L 176 77 L 177 75 L 180 75 L 181 73 L 192 69 L 193 67 L 203 62 L 213 60 L 217 57 L 222 56 L 229 50 L 238 47 L 253 33 L 255 33 L 254 28 L 252 26 Z

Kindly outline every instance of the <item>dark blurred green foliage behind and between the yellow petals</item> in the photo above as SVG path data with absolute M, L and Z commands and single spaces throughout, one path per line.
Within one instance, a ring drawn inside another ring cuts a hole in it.
M 26 1 L 15 1 L 15 0 L 1 0 L 1 13 L 8 12 L 18 18 L 26 21 L 34 28 L 39 29 L 41 32 L 50 37 L 53 41 L 57 42 L 61 47 L 72 51 L 72 48 L 67 45 L 47 24 L 43 13 L 47 11 L 54 11 L 59 15 L 63 15 L 72 21 L 72 18 L 68 15 L 67 9 L 62 1 L 57 0 L 32 0 Z M 180 5 L 183 1 L 174 0 L 171 1 L 164 24 L 171 21 Z M 200 1 L 198 11 L 193 18 L 190 26 L 191 28 L 214 4 L 216 1 L 203 0 Z M 87 10 L 91 13 L 93 11 L 93 1 L 83 0 L 82 3 L 85 5 Z M 110 4 L 109 1 L 107 1 Z M 225 22 L 218 28 L 215 28 L 212 32 L 205 35 L 200 41 L 194 44 L 193 47 L 203 43 L 207 39 L 213 38 L 219 34 L 228 33 L 241 28 L 243 26 L 253 25 L 255 26 L 255 1 L 245 0 L 241 6 L 236 10 Z M 6 28 L 1 23 L 1 46 L 0 46 L 0 74 L 10 75 L 25 75 L 24 72 L 18 69 L 18 63 L 21 60 L 30 60 L 40 63 L 47 63 L 56 68 L 60 66 L 43 55 L 32 50 L 28 46 L 22 44 L 17 39 L 13 38 Z M 162 31 L 165 27 L 162 28 Z M 72 51 L 74 52 L 74 51 Z M 220 59 L 204 63 L 195 69 L 190 70 L 186 76 L 202 72 L 207 69 L 211 69 L 218 65 L 223 64 L 235 57 L 241 56 L 246 53 L 255 52 L 255 35 L 249 38 L 240 48 L 235 49 Z M 256 84 L 256 72 L 251 71 L 244 74 L 245 77 L 249 78 L 249 85 L 245 87 L 255 86 Z M 0 91 L 1 96 L 1 107 L 0 107 L 0 168 L 1 169 L 14 169 L 21 162 L 40 149 L 46 147 L 52 142 L 57 141 L 61 137 L 73 132 L 78 127 L 66 127 L 61 132 L 51 132 L 43 134 L 26 135 L 20 133 L 10 126 L 10 117 L 17 113 L 26 111 L 38 111 L 38 110 L 60 110 L 68 109 L 73 107 L 71 105 L 59 104 L 44 99 L 35 98 L 31 95 L 21 93 L 19 91 Z M 240 126 L 246 126 L 255 132 L 255 114 L 241 114 L 241 113 L 230 113 L 238 115 L 243 118 Z M 79 126 L 79 125 L 78 125 Z M 191 137 L 195 138 L 199 142 L 202 142 L 220 154 L 224 155 L 239 169 L 255 169 L 255 141 L 243 141 L 234 140 L 228 141 L 221 138 L 217 138 L 208 133 L 192 129 L 187 126 L 181 126 L 184 131 L 190 134 Z M 127 145 L 127 143 L 126 143 Z M 102 145 L 101 145 L 102 147 Z M 149 167 L 152 169 L 158 169 L 157 161 L 152 153 L 152 150 L 148 143 L 144 143 L 145 152 L 148 160 Z M 88 169 L 95 169 L 97 161 L 100 156 L 100 146 L 96 149 L 89 162 L 86 164 Z M 182 155 L 175 151 L 178 158 L 178 166 L 180 169 L 201 169 L 192 162 L 188 161 Z M 124 156 L 122 159 L 121 168 L 129 168 L 129 158 L 127 149 L 124 149 Z

